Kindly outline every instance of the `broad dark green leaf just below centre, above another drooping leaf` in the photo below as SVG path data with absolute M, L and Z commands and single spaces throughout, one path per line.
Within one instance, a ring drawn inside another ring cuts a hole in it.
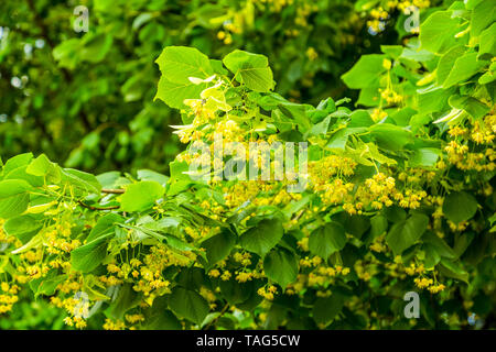
M 282 239 L 283 228 L 278 219 L 263 219 L 240 237 L 241 246 L 263 257 Z

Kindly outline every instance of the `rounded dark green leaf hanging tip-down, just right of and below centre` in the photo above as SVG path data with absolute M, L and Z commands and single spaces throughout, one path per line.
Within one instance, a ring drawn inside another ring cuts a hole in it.
M 327 260 L 334 252 L 341 251 L 346 245 L 346 234 L 338 222 L 328 222 L 315 229 L 309 238 L 309 249 L 312 254 Z

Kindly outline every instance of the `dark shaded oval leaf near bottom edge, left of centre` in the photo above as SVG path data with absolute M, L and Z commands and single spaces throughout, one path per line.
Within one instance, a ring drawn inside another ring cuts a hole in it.
M 169 307 L 177 316 L 197 324 L 202 323 L 211 310 L 208 302 L 194 290 L 175 287 L 169 297 Z

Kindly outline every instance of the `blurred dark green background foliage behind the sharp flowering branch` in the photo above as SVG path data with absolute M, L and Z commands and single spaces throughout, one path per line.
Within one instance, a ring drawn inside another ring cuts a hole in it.
M 88 9 L 87 33 L 74 30 L 77 6 Z M 169 128 L 177 113 L 153 101 L 154 59 L 164 46 L 194 46 L 213 58 L 234 48 L 263 53 L 278 92 L 315 102 L 349 96 L 338 77 L 396 36 L 367 34 L 349 0 L 3 0 L 0 7 L 2 156 L 44 152 L 91 172 L 165 172 L 179 152 Z

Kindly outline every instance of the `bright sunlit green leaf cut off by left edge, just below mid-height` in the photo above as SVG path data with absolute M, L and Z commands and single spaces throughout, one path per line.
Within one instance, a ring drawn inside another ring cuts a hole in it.
M 0 182 L 0 219 L 17 217 L 28 209 L 30 184 L 21 179 Z

